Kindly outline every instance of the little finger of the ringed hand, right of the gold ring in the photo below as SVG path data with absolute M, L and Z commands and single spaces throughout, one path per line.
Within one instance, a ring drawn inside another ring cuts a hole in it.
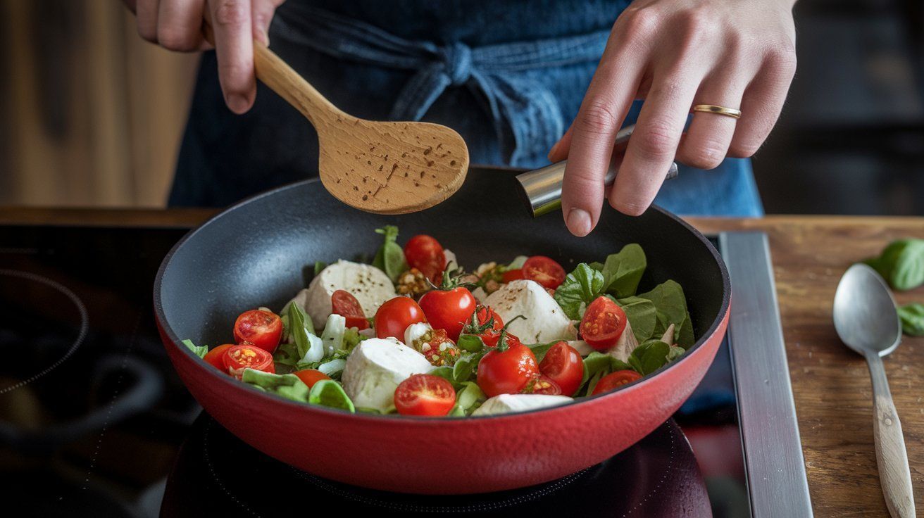
M 757 152 L 776 124 L 789 84 L 796 74 L 796 52 L 783 45 L 763 60 L 741 100 L 741 118 L 729 146 L 728 156 L 747 158 Z

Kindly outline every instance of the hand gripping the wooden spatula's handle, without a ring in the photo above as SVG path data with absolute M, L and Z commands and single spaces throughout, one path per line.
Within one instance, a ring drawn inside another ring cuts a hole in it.
M 203 20 L 207 21 L 214 32 L 225 103 L 236 114 L 250 109 L 257 95 L 253 40 L 269 44 L 270 21 L 285 0 L 124 1 L 135 12 L 141 37 L 172 51 L 212 48 L 202 35 Z

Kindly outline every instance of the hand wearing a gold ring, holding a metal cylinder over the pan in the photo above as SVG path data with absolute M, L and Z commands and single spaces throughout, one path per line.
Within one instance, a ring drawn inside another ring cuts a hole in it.
M 670 163 L 711 169 L 749 157 L 770 133 L 796 71 L 792 0 L 636 0 L 616 19 L 574 124 L 549 153 L 565 167 L 562 210 L 574 235 L 600 218 L 616 131 L 634 99 L 645 103 L 609 193 L 638 216 Z M 694 104 L 739 108 L 740 119 Z M 616 158 L 616 160 L 620 160 Z

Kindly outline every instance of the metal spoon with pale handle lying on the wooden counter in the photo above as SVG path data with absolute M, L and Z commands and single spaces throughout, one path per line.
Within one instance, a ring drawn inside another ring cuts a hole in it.
M 902 340 L 902 325 L 892 292 L 876 271 L 865 264 L 855 264 L 837 285 L 833 315 L 834 328 L 841 340 L 866 357 L 869 364 L 876 412 L 873 422 L 876 464 L 885 503 L 894 517 L 913 517 L 915 500 L 905 437 L 882 368 L 882 356 L 892 353 Z

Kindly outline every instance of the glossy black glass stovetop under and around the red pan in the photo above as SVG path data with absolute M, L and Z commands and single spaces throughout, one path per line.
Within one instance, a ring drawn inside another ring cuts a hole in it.
M 201 412 L 154 326 L 154 273 L 185 232 L 0 226 L 0 497 L 13 515 L 749 515 L 727 344 L 672 420 L 539 487 L 395 495 L 256 452 Z

